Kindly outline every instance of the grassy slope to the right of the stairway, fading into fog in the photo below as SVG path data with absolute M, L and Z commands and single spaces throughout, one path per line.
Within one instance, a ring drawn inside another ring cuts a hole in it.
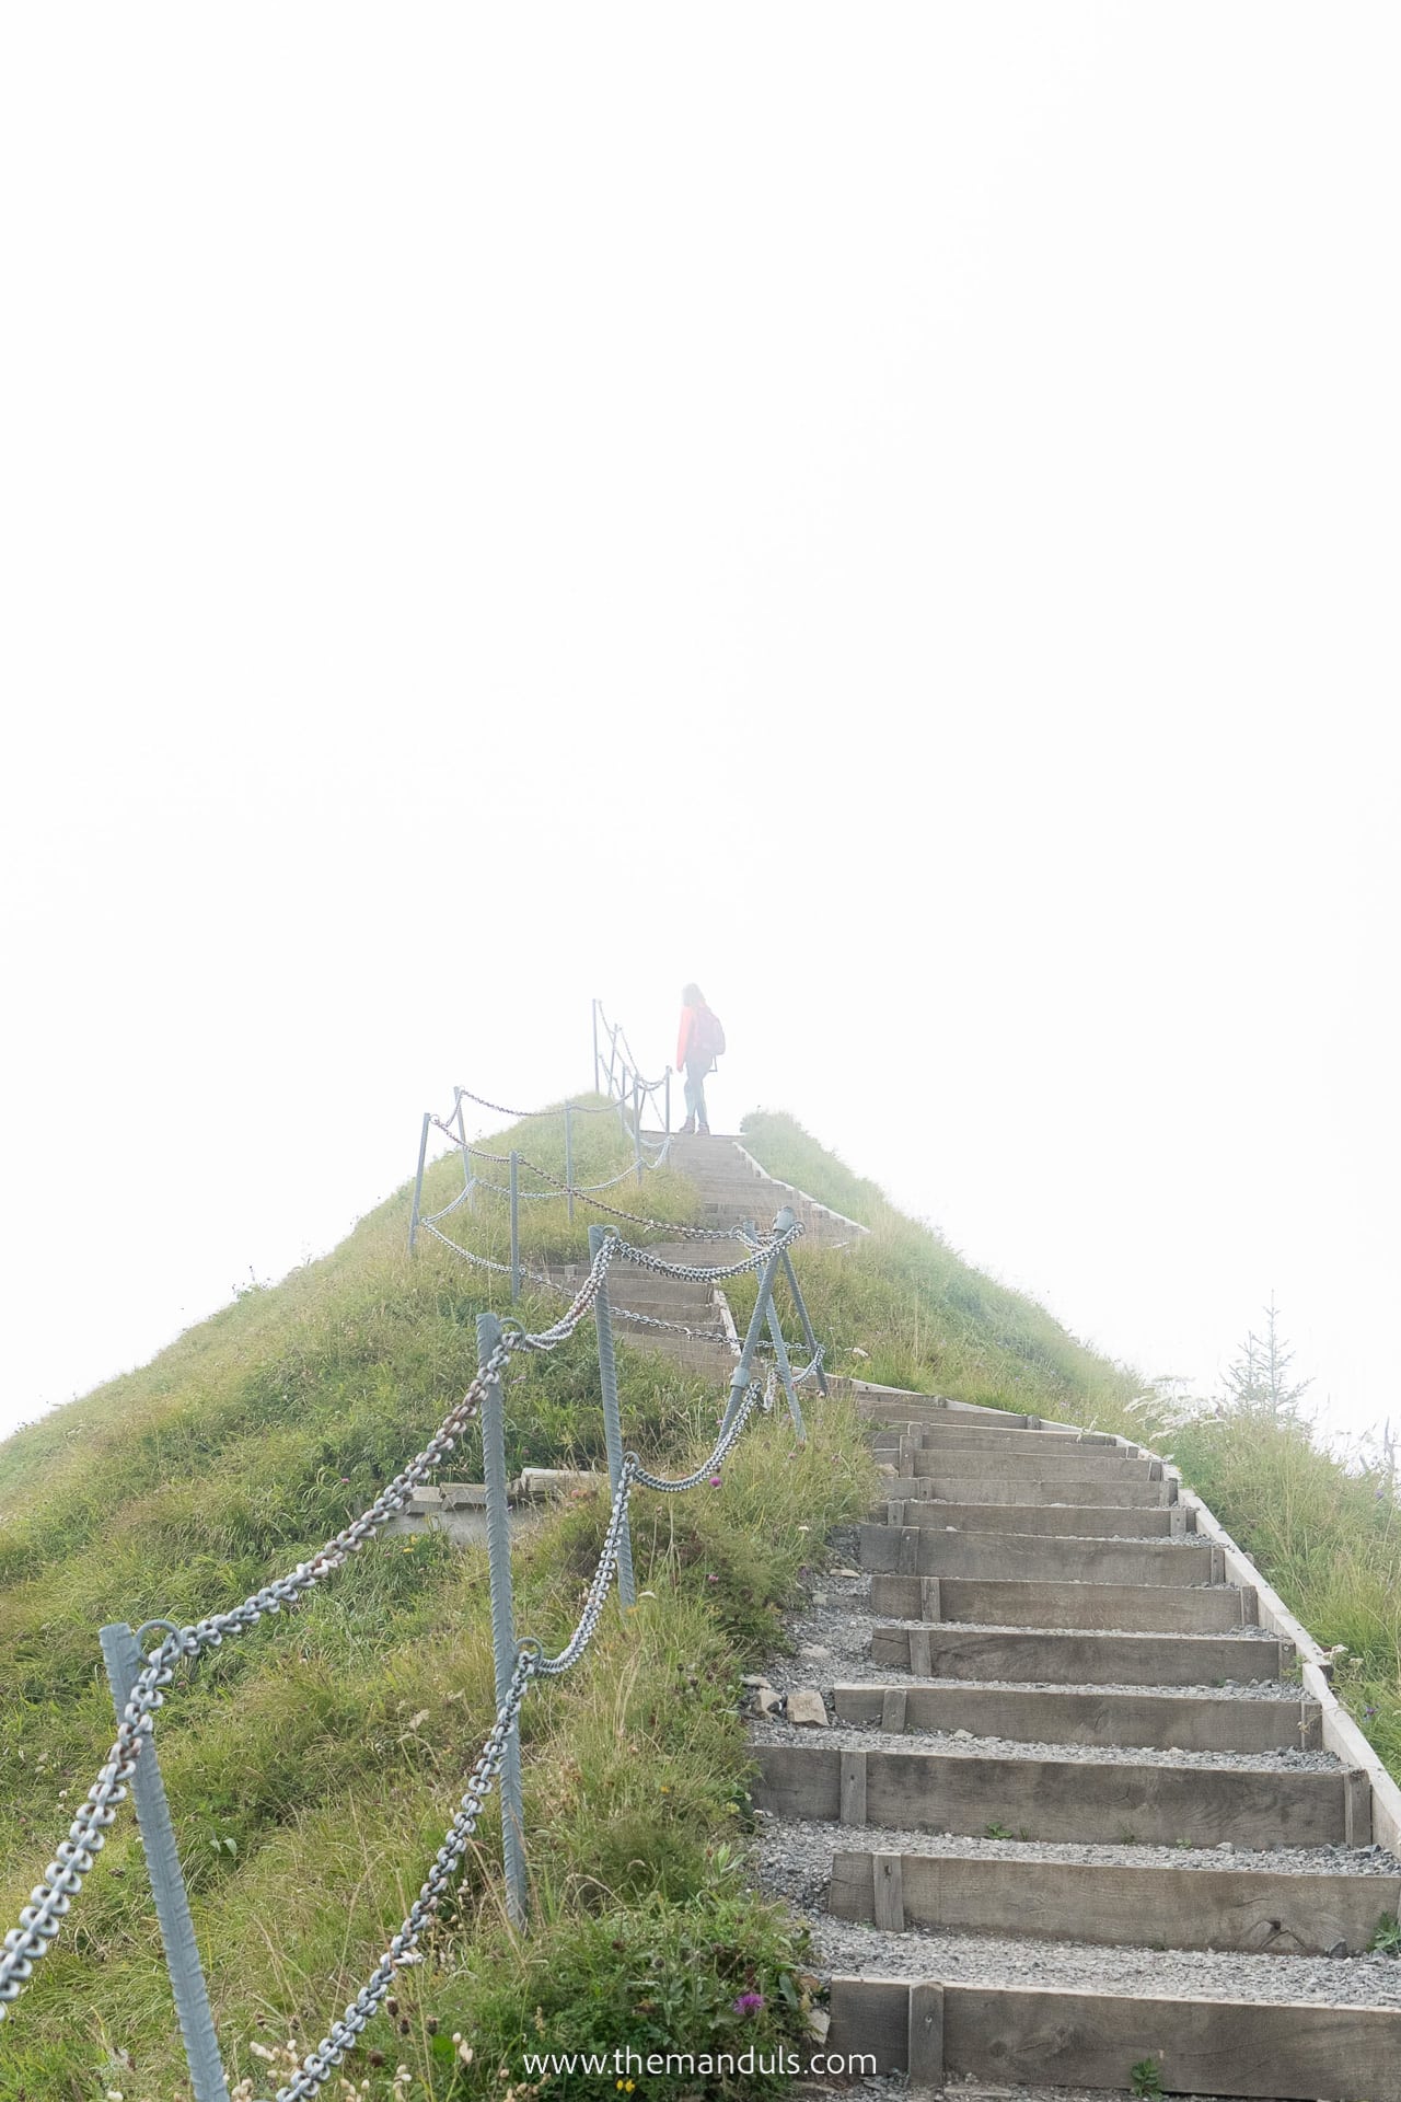
M 813 1320 L 840 1371 L 1172 1452 L 1304 1627 L 1325 1646 L 1346 1644 L 1338 1696 L 1401 1778 L 1401 1507 L 1380 1476 L 1346 1474 L 1302 1425 L 1210 1410 L 1176 1421 L 1031 1299 L 970 1272 L 790 1116 L 746 1118 L 744 1141 L 771 1175 L 872 1228 L 851 1255 L 804 1259 Z M 851 1358 L 853 1343 L 867 1364 Z

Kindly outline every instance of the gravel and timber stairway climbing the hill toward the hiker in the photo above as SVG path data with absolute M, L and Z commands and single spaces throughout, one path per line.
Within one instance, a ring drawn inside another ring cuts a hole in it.
M 861 1234 L 739 1141 L 672 1158 L 704 1223 L 792 1204 L 811 1242 Z M 666 1282 L 639 1312 L 712 1318 Z M 922 2094 L 1401 2102 L 1401 1961 L 1369 1953 L 1401 1791 L 1304 1629 L 1153 1452 L 836 1385 L 884 1495 L 769 1671 L 825 1722 L 752 1724 L 762 1879 L 813 1923 L 828 2049 Z

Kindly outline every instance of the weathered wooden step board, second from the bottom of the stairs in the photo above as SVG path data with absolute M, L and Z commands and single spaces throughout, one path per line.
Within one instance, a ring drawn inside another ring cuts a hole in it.
M 872 1860 L 878 1864 L 872 1871 Z M 893 1881 L 891 1854 L 838 1852 L 828 1909 L 876 1919 Z M 1241 1949 L 1254 1955 L 1327 1955 L 1365 1949 L 1382 1913 L 1397 1915 L 1401 1877 L 1279 1875 L 1271 1869 L 1164 1869 L 1061 1860 L 905 1854 L 901 1909 L 912 1925 L 956 1934 L 1029 1934 L 1040 1940 Z M 876 1919 L 876 1923 L 880 1923 Z

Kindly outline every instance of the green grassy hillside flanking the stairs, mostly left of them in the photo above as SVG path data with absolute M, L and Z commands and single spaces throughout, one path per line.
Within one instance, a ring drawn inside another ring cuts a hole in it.
M 611 1118 L 582 1120 L 576 1139 L 580 1181 L 626 1165 Z M 563 1165 L 559 1118 L 494 1143 Z M 849 1251 L 798 1249 L 838 1371 L 1147 1436 L 1138 1383 L 1124 1368 L 970 1270 L 790 1118 L 750 1120 L 746 1143 L 775 1175 L 872 1228 Z M 458 1165 L 437 1162 L 426 1204 L 447 1202 L 458 1183 Z M 639 1196 L 668 1219 L 695 1204 L 668 1171 L 649 1175 L 641 1194 L 624 1186 L 624 1204 Z M 584 1213 L 573 1228 L 563 1200 L 523 1215 L 527 1259 L 584 1253 Z M 500 1200 L 481 1198 L 454 1223 L 479 1253 L 504 1255 Z M 185 1621 L 237 1604 L 363 1509 L 468 1385 L 475 1316 L 504 1303 L 500 1280 L 431 1240 L 410 1259 L 405 1225 L 401 1190 L 323 1261 L 246 1293 L 143 1371 L 0 1444 L 4 1925 L 111 1743 L 99 1625 Z M 741 1289 L 733 1301 L 744 1307 Z M 521 1307 L 529 1326 L 557 1312 L 552 1297 Z M 515 1360 L 513 1471 L 601 1463 L 590 1345 L 584 1333 L 550 1358 Z M 626 1438 L 647 1459 L 681 1471 L 708 1450 L 714 1392 L 628 1345 L 620 1377 Z M 744 1881 L 735 1705 L 739 1675 L 779 1640 L 804 1558 L 874 1499 L 853 1410 L 813 1406 L 809 1427 L 807 1450 L 794 1455 L 777 1410 L 746 1434 L 718 1486 L 639 1499 L 636 1614 L 622 1625 L 609 1608 L 584 1665 L 534 1688 L 525 1707 L 529 1936 L 517 1940 L 502 1917 L 492 1814 L 428 1961 L 347 2062 L 353 2089 L 332 2081 L 328 2094 L 506 2102 L 536 2091 L 523 2049 L 647 2052 L 697 2039 L 773 2049 L 804 2037 L 800 1940 Z M 1252 1541 L 1233 1509 L 1252 1495 L 1252 1469 L 1206 1429 L 1197 1436 L 1193 1467 L 1204 1478 L 1214 1469 L 1208 1488 L 1222 1518 Z M 454 1474 L 477 1467 L 468 1446 Z M 1336 1526 L 1348 1530 L 1351 1490 L 1332 1484 L 1330 1495 L 1342 1499 Z M 603 1499 L 584 1497 L 519 1543 L 521 1633 L 552 1644 L 567 1635 L 603 1522 Z M 1359 1568 L 1380 1585 L 1382 1532 L 1372 1518 L 1367 1526 Z M 1285 1528 L 1277 1581 L 1294 1539 Z M 1378 1606 L 1380 1593 L 1367 1598 Z M 1369 1658 L 1367 1686 L 1384 1692 L 1386 1669 L 1397 1682 L 1395 1654 L 1384 1665 L 1395 1619 L 1380 1614 L 1378 1627 L 1390 1635 L 1359 1654 Z M 162 1772 L 225 2062 L 231 2079 L 254 2083 L 248 2094 L 271 2094 L 286 2077 L 275 2054 L 288 2041 L 315 2043 L 368 1974 L 441 1839 L 492 1711 L 485 1555 L 424 1537 L 372 1543 L 296 1612 L 176 1682 L 160 1719 Z M 1378 1713 L 1384 1722 L 1390 1711 Z M 273 2060 L 260 2056 L 269 2052 Z M 649 2079 L 647 2094 L 781 2085 L 752 2075 L 702 2087 Z M 0 2026 L 6 2102 L 92 2102 L 107 2089 L 126 2102 L 172 2102 L 187 2089 L 130 1810 L 55 1953 Z M 601 2089 L 594 2077 L 544 2091 Z

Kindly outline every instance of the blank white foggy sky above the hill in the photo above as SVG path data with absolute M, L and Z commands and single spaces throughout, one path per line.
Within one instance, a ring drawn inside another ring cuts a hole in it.
M 0 1429 L 462 1080 L 1401 1415 L 1388 6 L 8 11 Z

